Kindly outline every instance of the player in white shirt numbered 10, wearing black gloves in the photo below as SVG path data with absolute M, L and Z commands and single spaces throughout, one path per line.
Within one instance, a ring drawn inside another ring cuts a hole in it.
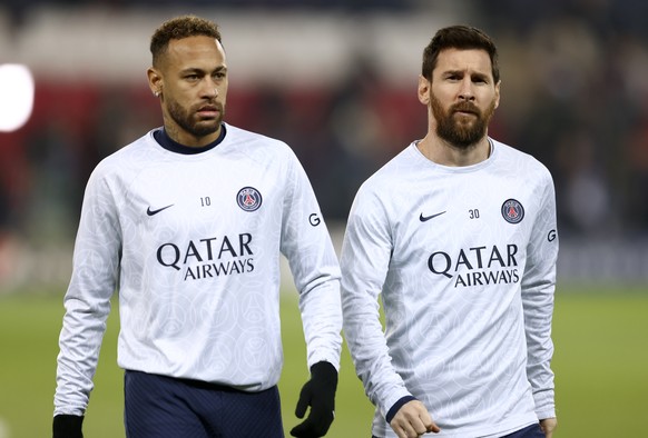
M 340 267 L 310 181 L 285 143 L 223 121 L 228 72 L 215 23 L 171 19 L 150 50 L 164 127 L 88 181 L 53 437 L 82 436 L 115 290 L 127 436 L 283 437 L 279 253 L 300 292 L 311 369 L 296 409 L 310 414 L 291 435 L 324 436 L 342 346 Z

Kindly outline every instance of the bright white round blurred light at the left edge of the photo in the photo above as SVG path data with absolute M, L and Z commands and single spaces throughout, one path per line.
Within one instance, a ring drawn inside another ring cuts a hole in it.
M 0 131 L 20 129 L 33 109 L 33 77 L 27 66 L 0 64 Z

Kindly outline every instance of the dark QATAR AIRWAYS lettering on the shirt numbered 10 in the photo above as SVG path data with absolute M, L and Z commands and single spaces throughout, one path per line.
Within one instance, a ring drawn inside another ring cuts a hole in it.
M 163 243 L 157 261 L 165 268 L 183 272 L 185 281 L 232 276 L 254 270 L 252 235 L 210 237 L 187 243 Z

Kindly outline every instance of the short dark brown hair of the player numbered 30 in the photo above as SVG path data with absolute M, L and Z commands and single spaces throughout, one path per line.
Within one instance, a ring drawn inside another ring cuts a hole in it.
M 480 29 L 471 26 L 450 26 L 440 29 L 428 47 L 423 50 L 423 67 L 421 74 L 428 80 L 432 80 L 432 71 L 436 67 L 439 53 L 445 49 L 485 50 L 491 59 L 491 68 L 494 83 L 500 81 L 500 67 L 498 64 L 498 48 L 493 40 Z

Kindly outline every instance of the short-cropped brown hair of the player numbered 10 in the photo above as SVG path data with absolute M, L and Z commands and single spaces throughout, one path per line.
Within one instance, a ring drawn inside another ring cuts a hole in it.
M 157 66 L 159 58 L 166 52 L 170 40 L 181 40 L 188 37 L 205 36 L 220 41 L 218 26 L 196 16 L 180 16 L 161 23 L 150 38 L 153 64 Z

